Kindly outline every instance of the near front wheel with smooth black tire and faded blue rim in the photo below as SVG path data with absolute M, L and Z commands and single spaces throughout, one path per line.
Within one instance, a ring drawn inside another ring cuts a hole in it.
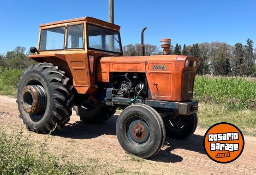
M 161 120 L 161 116 L 152 107 L 143 104 L 126 107 L 116 124 L 121 147 L 141 158 L 154 156 L 165 139 L 165 128 Z

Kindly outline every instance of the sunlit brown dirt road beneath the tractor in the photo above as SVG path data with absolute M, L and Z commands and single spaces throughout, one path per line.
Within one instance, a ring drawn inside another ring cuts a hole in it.
M 18 116 L 15 99 L 0 96 L 0 127 L 6 130 L 20 127 L 23 122 Z M 204 129 L 197 129 L 183 141 L 167 138 L 165 146 L 154 158 L 140 161 L 125 154 L 119 146 L 115 133 L 117 117 L 114 115 L 104 124 L 92 125 L 81 123 L 73 114 L 65 128 L 50 136 L 47 149 L 61 157 L 60 163 L 69 161 L 83 165 L 88 161 L 96 162 L 100 168 L 98 172 L 102 174 L 256 174 L 256 137 L 244 136 L 244 152 L 229 164 L 215 163 L 204 153 Z M 46 137 L 32 133 L 35 141 L 43 141 Z

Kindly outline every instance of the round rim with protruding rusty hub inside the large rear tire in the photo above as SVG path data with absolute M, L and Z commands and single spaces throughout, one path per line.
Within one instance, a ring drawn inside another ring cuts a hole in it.
M 47 95 L 38 80 L 30 80 L 20 94 L 21 106 L 32 120 L 42 119 L 46 109 Z

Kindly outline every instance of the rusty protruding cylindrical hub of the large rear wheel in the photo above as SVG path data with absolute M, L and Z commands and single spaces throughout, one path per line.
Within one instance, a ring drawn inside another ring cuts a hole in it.
M 20 95 L 22 108 L 26 113 L 42 112 L 46 107 L 46 93 L 41 85 L 27 85 Z

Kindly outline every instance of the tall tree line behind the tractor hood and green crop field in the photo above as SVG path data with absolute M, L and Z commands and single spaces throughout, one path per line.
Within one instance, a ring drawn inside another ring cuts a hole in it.
M 246 45 L 236 43 L 234 46 L 224 42 L 204 42 L 193 45 L 171 45 L 168 54 L 195 56 L 198 58 L 197 73 L 200 75 L 256 76 L 256 48 L 253 40 Z M 138 56 L 139 44 L 125 45 L 125 56 Z M 145 55 L 162 55 L 155 45 L 145 45 Z

